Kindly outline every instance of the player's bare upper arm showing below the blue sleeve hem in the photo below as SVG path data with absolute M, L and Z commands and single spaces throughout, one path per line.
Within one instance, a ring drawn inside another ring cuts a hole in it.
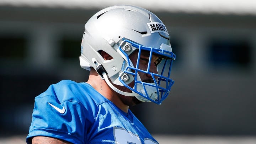
M 72 144 L 61 139 L 37 136 L 33 137 L 32 144 Z

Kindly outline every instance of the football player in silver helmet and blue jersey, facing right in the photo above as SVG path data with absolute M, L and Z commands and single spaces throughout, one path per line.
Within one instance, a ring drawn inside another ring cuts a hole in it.
M 107 7 L 85 24 L 87 82 L 63 80 L 35 98 L 28 144 L 157 144 L 129 110 L 161 104 L 174 81 L 175 54 L 164 23 L 136 6 Z

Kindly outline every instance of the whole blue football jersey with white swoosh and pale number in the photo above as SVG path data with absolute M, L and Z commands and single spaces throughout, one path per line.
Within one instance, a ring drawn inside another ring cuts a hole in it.
M 51 85 L 35 98 L 27 136 L 53 137 L 74 144 L 158 144 L 128 110 L 123 112 L 87 83 Z

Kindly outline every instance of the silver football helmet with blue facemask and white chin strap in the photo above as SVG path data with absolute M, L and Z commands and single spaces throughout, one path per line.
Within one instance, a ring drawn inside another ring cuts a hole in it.
M 138 50 L 137 64 L 129 55 Z M 147 70 L 138 68 L 140 52 L 150 52 Z M 100 52 L 113 59 L 104 60 Z M 152 55 L 157 55 L 158 73 L 150 72 Z M 161 104 L 168 96 L 174 81 L 170 79 L 175 54 L 170 46 L 169 33 L 162 21 L 148 10 L 136 6 L 111 6 L 97 12 L 85 24 L 81 44 L 80 65 L 86 70 L 94 68 L 102 79 L 119 94 L 135 96 L 140 101 Z M 153 82 L 143 82 L 138 73 L 152 76 Z M 128 84 L 134 82 L 134 86 Z M 113 84 L 125 86 L 124 92 Z

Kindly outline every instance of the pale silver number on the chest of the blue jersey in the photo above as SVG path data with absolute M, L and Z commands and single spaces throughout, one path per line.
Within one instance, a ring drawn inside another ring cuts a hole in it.
M 133 134 L 132 132 L 127 132 L 124 128 L 114 127 L 114 138 L 117 144 L 141 144 L 138 135 Z M 153 142 L 151 139 L 145 139 L 145 144 L 158 144 Z

